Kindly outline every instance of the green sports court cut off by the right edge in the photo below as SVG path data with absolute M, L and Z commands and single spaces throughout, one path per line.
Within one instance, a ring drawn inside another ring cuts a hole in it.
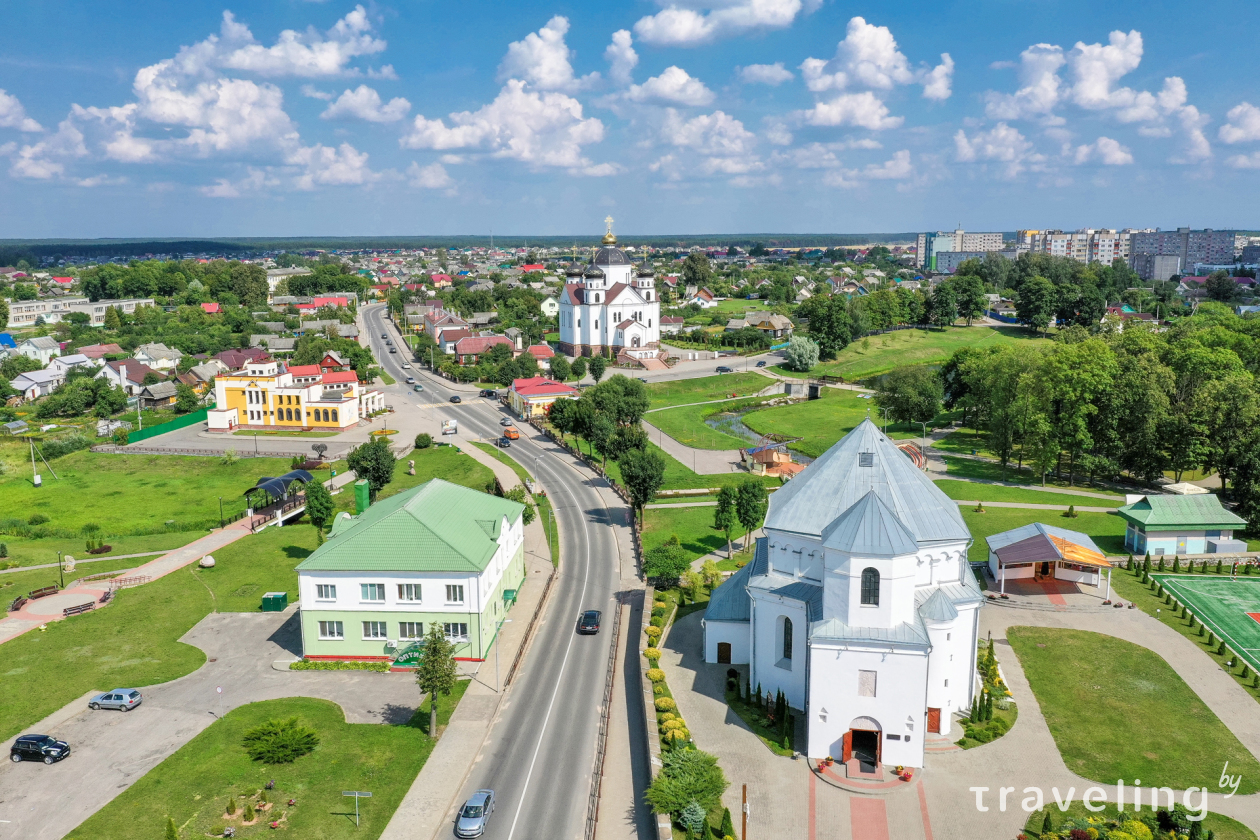
M 1260 577 L 1153 574 L 1217 639 L 1260 671 Z

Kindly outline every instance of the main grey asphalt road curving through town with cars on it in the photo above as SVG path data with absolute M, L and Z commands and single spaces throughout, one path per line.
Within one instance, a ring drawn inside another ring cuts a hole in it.
M 396 411 L 446 404 L 441 416 L 457 419 L 462 436 L 499 436 L 499 421 L 507 413 L 498 402 L 452 389 L 417 364 L 403 370 L 401 365 L 410 354 L 399 346 L 397 331 L 387 325 L 384 307 L 365 307 L 363 319 L 377 358 L 399 382 L 384 388 L 386 402 Z M 397 354 L 383 346 L 383 332 L 399 346 Z M 422 393 L 403 384 L 408 375 L 423 384 Z M 461 404 L 447 402 L 454 393 L 464 399 Z M 563 559 L 544 620 L 536 628 L 519 676 L 462 796 L 480 788 L 495 791 L 498 805 L 485 834 L 489 840 L 577 839 L 585 831 L 612 611 L 620 587 L 619 548 L 609 525 L 611 518 L 625 521 L 629 509 L 605 506 L 596 479 L 573 466 L 571 456 L 557 446 L 522 436 L 505 452 L 546 487 L 556 509 Z M 575 632 L 583 610 L 604 612 L 605 627 L 597 636 Z

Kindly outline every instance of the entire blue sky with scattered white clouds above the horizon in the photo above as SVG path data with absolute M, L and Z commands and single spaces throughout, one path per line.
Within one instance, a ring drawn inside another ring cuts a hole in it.
M 1260 6 L 6 4 L 0 237 L 1260 220 Z

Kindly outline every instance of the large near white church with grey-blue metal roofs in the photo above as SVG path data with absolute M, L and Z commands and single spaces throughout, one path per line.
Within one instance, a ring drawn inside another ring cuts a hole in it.
M 975 691 L 983 596 L 958 504 L 867 418 L 770 496 L 765 530 L 713 592 L 704 660 L 781 689 L 810 758 L 922 767 Z

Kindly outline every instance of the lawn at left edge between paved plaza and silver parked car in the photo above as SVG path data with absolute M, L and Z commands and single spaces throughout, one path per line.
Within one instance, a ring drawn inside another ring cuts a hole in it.
M 103 610 L 0 645 L 0 741 L 89 690 L 166 683 L 197 670 L 205 654 L 175 640 L 210 606 L 205 587 L 180 570 L 118 592 Z

